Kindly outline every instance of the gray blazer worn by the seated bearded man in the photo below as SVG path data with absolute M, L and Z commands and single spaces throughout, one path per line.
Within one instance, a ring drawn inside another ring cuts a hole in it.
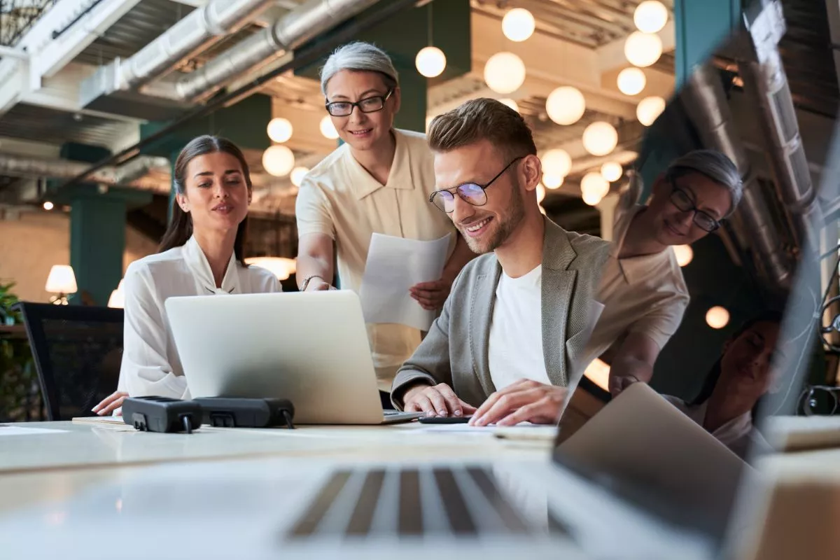
M 572 369 L 589 340 L 592 301 L 609 251 L 610 243 L 601 238 L 567 232 L 545 219 L 543 353 L 554 385 L 569 385 Z M 487 345 L 500 275 L 501 265 L 493 253 L 473 259 L 461 270 L 440 317 L 396 372 L 391 385 L 394 406 L 402 409 L 402 390 L 418 380 L 445 383 L 472 406 L 480 406 L 496 391 Z

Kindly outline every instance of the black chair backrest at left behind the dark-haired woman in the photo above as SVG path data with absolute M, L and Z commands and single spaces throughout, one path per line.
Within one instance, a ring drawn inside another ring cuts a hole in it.
M 123 310 L 21 302 L 29 346 L 50 420 L 92 416 L 117 390 Z

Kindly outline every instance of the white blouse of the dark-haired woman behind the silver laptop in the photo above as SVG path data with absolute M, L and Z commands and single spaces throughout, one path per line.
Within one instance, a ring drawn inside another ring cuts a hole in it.
M 189 399 L 186 379 L 164 303 L 174 296 L 213 296 L 281 291 L 276 276 L 244 267 L 231 255 L 216 288 L 207 257 L 191 237 L 181 247 L 129 264 L 123 280 L 125 326 L 118 390 L 131 396 Z

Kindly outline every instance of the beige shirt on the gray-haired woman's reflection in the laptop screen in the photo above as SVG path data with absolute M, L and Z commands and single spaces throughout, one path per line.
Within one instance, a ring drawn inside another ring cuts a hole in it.
M 645 208 L 634 204 L 634 200 L 632 193 L 627 192 L 616 209 L 612 249 L 601 275 L 598 298 L 604 309 L 586 347 L 583 364 L 601 356 L 630 332 L 648 336 L 661 350 L 680 327 L 690 300 L 674 249 L 618 258 L 633 217 Z

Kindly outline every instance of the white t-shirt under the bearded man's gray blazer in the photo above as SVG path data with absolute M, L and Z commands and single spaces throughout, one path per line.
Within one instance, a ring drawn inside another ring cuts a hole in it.
M 519 278 L 503 271 L 496 286 L 487 358 L 496 390 L 519 379 L 551 385 L 543 356 L 543 265 Z

